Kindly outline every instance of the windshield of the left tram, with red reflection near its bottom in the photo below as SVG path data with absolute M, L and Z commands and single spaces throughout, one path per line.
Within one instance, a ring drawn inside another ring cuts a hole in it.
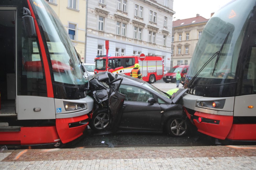
M 38 24 L 43 30 L 43 41 L 46 40 L 46 51 L 48 49 L 51 57 L 55 83 L 84 85 L 87 80 L 82 65 L 59 17 L 44 0 L 31 0 L 31 4 L 35 15 L 40 18 Z

